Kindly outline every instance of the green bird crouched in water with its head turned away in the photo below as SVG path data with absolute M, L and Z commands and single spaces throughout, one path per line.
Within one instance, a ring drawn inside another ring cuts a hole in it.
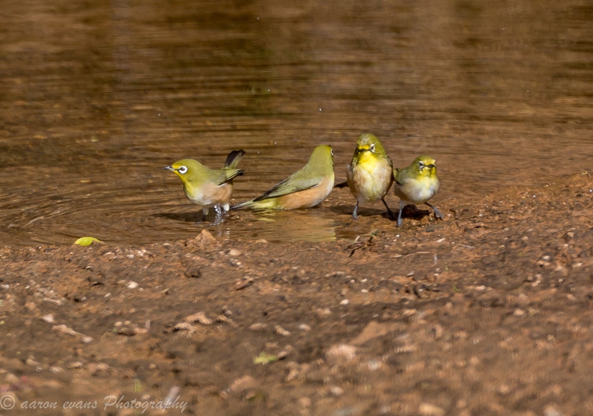
M 263 209 L 310 208 L 327 198 L 334 185 L 333 150 L 317 146 L 307 164 L 266 193 L 231 207 Z

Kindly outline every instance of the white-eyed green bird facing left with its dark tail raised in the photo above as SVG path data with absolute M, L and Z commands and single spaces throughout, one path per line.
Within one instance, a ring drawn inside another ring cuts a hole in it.
M 213 225 L 218 225 L 229 210 L 232 179 L 243 175 L 243 169 L 237 169 L 237 164 L 244 155 L 243 150 L 232 151 L 222 169 L 208 168 L 194 159 L 181 159 L 163 169 L 170 170 L 181 179 L 187 199 L 202 207 L 204 218 L 209 208 L 214 208 L 216 217 Z

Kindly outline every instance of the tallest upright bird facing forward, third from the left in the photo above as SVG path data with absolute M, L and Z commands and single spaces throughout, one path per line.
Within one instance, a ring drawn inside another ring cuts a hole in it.
M 393 183 L 393 163 L 380 140 L 374 135 L 366 133 L 356 140 L 356 149 L 349 165 L 346 165 L 347 181 L 336 185 L 350 188 L 356 198 L 356 205 L 352 217 L 358 218 L 358 204 L 372 204 L 378 200 L 387 208 L 387 214 L 393 218 L 393 212 L 385 202 L 391 184 Z

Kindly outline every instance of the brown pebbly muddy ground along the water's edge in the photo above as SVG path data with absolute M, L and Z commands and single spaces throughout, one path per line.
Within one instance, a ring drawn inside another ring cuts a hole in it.
M 361 210 L 356 242 L 3 248 L 5 414 L 593 414 L 591 178 L 439 207 Z

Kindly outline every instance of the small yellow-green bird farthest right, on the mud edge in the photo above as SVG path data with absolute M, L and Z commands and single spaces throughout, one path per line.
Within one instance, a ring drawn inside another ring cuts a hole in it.
M 426 204 L 432 208 L 435 217 L 445 219 L 437 207 L 427 201 L 439 191 L 441 186 L 436 177 L 436 161 L 431 156 L 418 156 L 412 164 L 403 169 L 393 169 L 394 193 L 400 197 L 400 212 L 397 226 L 401 225 L 401 211 L 408 204 Z

